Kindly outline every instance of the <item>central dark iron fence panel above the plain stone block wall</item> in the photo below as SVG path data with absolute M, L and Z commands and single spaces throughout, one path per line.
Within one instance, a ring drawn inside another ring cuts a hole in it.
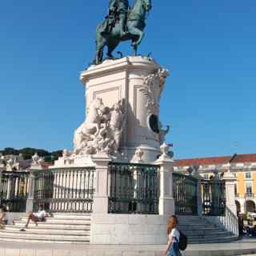
M 110 163 L 109 213 L 158 214 L 158 166 Z

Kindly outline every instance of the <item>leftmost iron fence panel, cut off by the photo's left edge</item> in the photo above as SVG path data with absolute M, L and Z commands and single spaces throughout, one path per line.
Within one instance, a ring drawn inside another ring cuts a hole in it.
M 0 186 L 0 205 L 12 212 L 26 210 L 28 172 L 3 171 Z

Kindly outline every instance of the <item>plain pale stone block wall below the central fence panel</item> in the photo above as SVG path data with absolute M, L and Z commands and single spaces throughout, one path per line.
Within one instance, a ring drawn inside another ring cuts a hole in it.
M 168 216 L 92 214 L 90 244 L 166 244 Z

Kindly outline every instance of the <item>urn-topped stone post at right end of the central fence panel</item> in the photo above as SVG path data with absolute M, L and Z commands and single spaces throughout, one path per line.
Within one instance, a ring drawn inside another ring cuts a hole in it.
M 169 146 L 166 143 L 162 144 L 160 147 L 162 155 L 156 162 L 160 167 L 160 195 L 159 195 L 159 215 L 172 215 L 175 214 L 175 204 L 174 204 L 174 182 L 173 182 L 173 172 L 174 172 L 174 160 L 170 158 L 167 154 Z

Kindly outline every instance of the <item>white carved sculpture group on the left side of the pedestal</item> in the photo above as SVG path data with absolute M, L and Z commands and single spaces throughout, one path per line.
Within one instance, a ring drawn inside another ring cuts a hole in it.
M 89 119 L 86 118 L 74 132 L 74 155 L 99 152 L 118 154 L 124 123 L 122 102 L 109 108 L 104 106 L 101 98 L 94 100 L 93 107 L 90 107 L 93 112 L 89 110 L 87 115 Z

